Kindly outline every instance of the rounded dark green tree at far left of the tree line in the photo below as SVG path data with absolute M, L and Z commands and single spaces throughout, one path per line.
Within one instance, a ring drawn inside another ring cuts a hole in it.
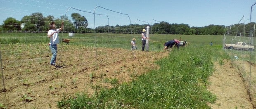
M 20 31 L 21 30 L 21 22 L 12 18 L 8 17 L 2 26 L 4 31 Z

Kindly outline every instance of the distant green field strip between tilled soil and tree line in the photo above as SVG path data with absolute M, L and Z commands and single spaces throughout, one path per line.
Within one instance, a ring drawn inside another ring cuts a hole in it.
M 130 49 L 130 41 L 136 38 L 138 47 L 141 47 L 140 34 L 105 34 L 105 33 L 85 33 L 68 36 L 68 33 L 59 33 L 59 39 L 70 39 L 70 44 L 85 45 L 91 47 L 119 47 Z M 186 40 L 190 44 L 198 45 L 222 45 L 223 36 L 204 36 L 204 35 L 158 35 L 149 34 L 149 50 L 162 50 L 163 43 L 172 40 Z M 0 43 L 48 43 L 47 33 L 0 33 Z

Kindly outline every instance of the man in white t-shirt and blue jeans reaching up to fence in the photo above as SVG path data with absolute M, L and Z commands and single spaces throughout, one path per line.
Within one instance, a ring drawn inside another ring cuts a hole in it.
M 56 28 L 55 22 L 51 22 L 50 30 L 47 33 L 48 38 L 50 38 L 49 47 L 52 52 L 52 59 L 50 61 L 50 66 L 56 68 L 56 58 L 57 58 L 57 44 L 59 43 L 59 31 L 63 30 L 64 22 L 62 21 L 61 28 Z

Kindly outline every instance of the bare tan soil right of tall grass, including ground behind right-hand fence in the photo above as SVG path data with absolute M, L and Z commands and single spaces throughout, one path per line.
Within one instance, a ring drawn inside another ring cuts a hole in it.
M 254 73 L 251 77 L 255 78 L 256 67 L 252 65 L 251 68 Z M 255 109 L 255 86 L 249 88 L 249 81 L 245 80 L 249 69 L 249 62 L 240 60 L 225 60 L 222 66 L 216 62 L 208 89 L 217 96 L 217 100 L 208 105 L 212 109 Z

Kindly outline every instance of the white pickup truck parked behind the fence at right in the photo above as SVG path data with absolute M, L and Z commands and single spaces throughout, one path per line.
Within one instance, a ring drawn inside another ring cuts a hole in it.
M 226 49 L 236 49 L 236 50 L 254 50 L 254 46 L 252 45 L 247 45 L 244 42 L 237 42 L 236 44 L 225 44 Z

